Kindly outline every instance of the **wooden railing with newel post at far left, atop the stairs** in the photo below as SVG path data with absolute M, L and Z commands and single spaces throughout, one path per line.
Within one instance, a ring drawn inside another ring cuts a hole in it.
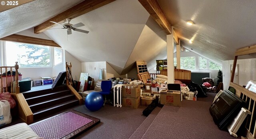
M 12 75 L 12 70 L 15 69 L 15 76 Z M 14 66 L 0 66 L 0 93 L 2 92 L 10 92 L 13 93 L 20 93 L 20 87 L 18 82 L 18 69 L 19 65 L 18 62 L 15 62 Z M 10 75 L 7 74 L 8 70 L 10 70 Z M 3 75 L 3 72 L 5 72 L 5 75 Z M 14 78 L 13 78 L 14 77 Z M 8 81 L 8 78 L 11 79 Z M 15 90 L 13 90 L 12 87 L 12 81 L 15 81 Z M 10 82 L 10 86 L 8 86 Z

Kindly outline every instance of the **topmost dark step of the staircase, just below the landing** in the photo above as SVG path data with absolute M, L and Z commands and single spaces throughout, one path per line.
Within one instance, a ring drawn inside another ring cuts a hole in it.
M 52 93 L 56 91 L 62 91 L 66 89 L 67 89 L 66 85 L 61 85 L 61 86 L 54 87 L 53 89 L 50 88 L 50 89 L 44 89 L 44 90 L 28 91 L 22 94 L 24 95 L 25 98 L 29 98 L 29 97 L 35 97 L 38 95 L 44 95 L 44 94 Z

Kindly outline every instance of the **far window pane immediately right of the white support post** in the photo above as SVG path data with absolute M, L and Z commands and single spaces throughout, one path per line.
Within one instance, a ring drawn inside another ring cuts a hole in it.
M 184 70 L 195 70 L 196 69 L 196 58 L 192 57 L 181 57 L 180 68 Z

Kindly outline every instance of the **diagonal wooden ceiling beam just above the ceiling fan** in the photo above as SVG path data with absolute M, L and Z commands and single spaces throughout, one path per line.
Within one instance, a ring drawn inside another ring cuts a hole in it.
M 42 24 L 34 27 L 34 33 L 39 34 L 49 28 L 56 26 L 56 24 L 54 24 L 50 21 L 54 21 L 54 22 L 62 24 L 64 22 L 66 22 L 66 18 L 70 18 L 70 19 L 76 18 L 76 17 L 86 14 L 87 12 L 90 12 L 94 9 L 100 8 L 101 6 L 109 4 L 113 1 L 115 1 L 115 0 L 84 0 L 83 2 L 73 6 L 72 8 L 69 8 L 68 10 L 66 10 L 66 11 L 54 16 L 53 18 L 46 20 Z

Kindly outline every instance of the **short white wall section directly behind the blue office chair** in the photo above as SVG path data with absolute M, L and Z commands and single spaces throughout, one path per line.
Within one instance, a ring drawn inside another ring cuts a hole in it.
M 106 62 L 82 62 L 82 72 L 89 73 L 89 76 L 94 78 L 94 83 L 99 79 L 100 70 L 102 71 L 102 79 L 107 79 Z

